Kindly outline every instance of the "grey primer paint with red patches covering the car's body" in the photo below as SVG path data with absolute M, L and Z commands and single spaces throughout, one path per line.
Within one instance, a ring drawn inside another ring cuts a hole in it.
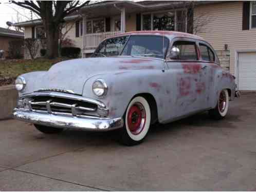
M 174 37 L 196 37 L 185 33 L 171 34 L 166 35 L 170 42 Z M 202 38 L 198 37 L 200 40 Z M 27 86 L 20 94 L 39 89 L 72 90 L 105 103 L 109 117 L 113 118 L 123 116 L 135 95 L 151 94 L 157 103 L 160 123 L 214 108 L 223 89 L 230 90 L 231 100 L 235 94 L 233 76 L 216 63 L 203 61 L 164 61 L 131 56 L 84 58 L 62 61 L 48 72 L 22 76 Z M 101 98 L 92 91 L 93 82 L 99 78 L 104 79 L 108 86 L 107 95 Z

